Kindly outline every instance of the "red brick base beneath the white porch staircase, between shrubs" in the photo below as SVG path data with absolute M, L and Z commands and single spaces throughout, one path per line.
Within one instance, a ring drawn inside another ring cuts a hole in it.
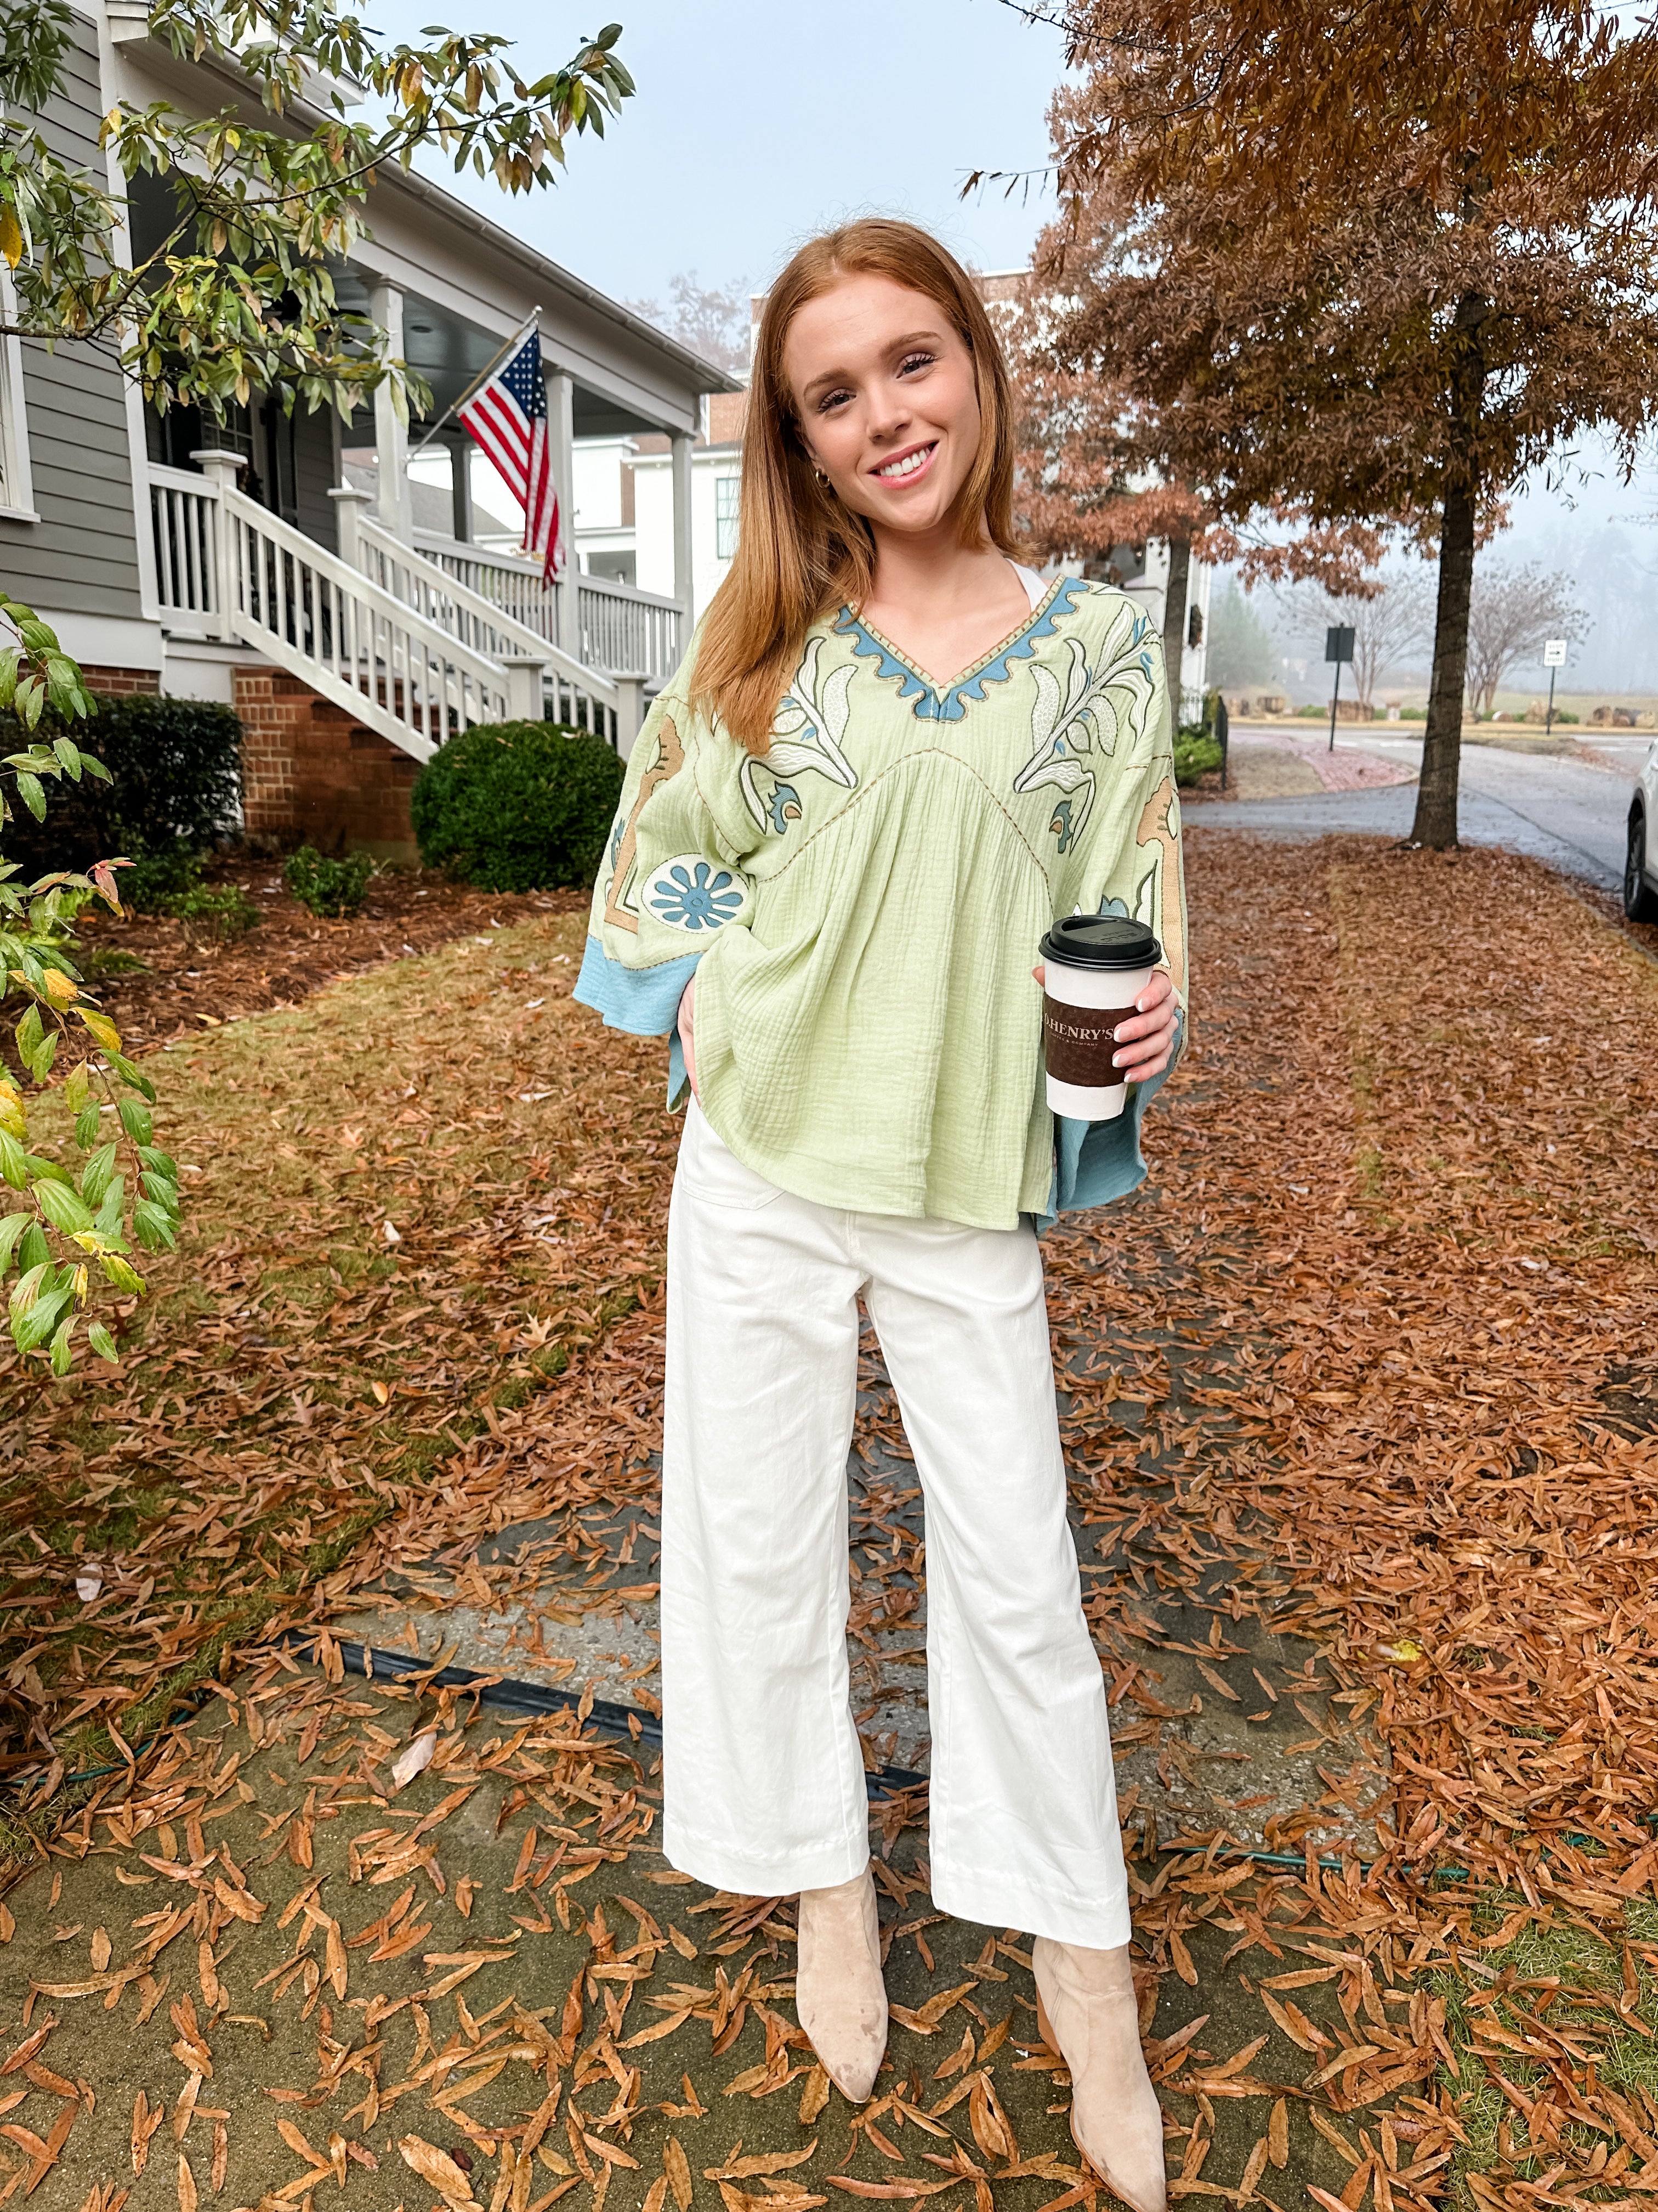
M 234 668 L 248 836 L 418 858 L 409 790 L 420 768 L 281 668 Z

